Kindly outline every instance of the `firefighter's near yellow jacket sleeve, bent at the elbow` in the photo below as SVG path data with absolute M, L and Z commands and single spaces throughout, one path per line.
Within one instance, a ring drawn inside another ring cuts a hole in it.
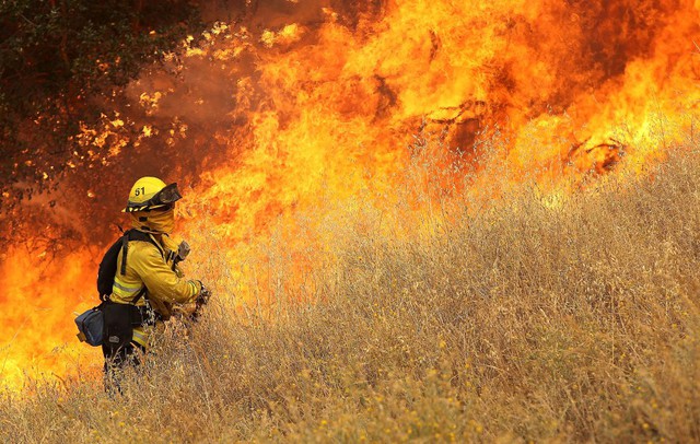
M 149 290 L 149 297 L 167 303 L 185 304 L 194 301 L 201 290 L 197 281 L 178 277 L 155 247 L 147 247 L 133 268 Z

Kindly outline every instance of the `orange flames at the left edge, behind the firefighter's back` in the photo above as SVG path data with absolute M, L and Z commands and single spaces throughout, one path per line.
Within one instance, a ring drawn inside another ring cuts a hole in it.
M 85 357 L 84 346 L 68 325 L 77 305 L 93 304 L 93 279 L 86 280 L 89 255 L 69 253 L 60 260 L 26 249 L 8 252 L 0 265 L 2 383 L 19 386 L 24 376 L 62 375 Z M 85 360 L 85 358 L 88 358 Z

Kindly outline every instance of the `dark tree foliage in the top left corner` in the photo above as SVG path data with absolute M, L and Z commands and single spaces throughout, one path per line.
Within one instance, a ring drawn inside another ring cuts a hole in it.
M 80 122 L 199 25 L 188 0 L 0 2 L 0 207 L 55 183 Z

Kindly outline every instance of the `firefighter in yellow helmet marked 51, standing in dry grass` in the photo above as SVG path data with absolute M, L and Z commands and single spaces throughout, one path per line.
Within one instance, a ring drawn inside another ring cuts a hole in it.
M 116 271 L 112 294 L 103 304 L 107 385 L 116 383 L 118 388 L 116 369 L 127 362 L 138 365 L 137 350 L 147 351 L 153 326 L 168 320 L 175 304 L 199 307 L 208 299 L 201 281 L 186 280 L 176 266 L 177 246 L 171 233 L 180 198 L 176 184 L 156 177 L 142 177 L 131 187 L 122 212 L 129 214 L 132 229 L 112 248 Z M 102 269 L 103 265 L 101 274 Z

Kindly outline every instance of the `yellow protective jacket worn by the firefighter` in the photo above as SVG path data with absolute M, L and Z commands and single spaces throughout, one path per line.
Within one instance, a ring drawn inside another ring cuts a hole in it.
M 173 270 L 170 248 L 149 234 L 153 243 L 147 241 L 129 241 L 127 249 L 126 272 L 121 273 L 121 255 L 117 258 L 117 272 L 112 287 L 109 300 L 118 304 L 129 304 L 145 285 L 145 293 L 136 305 L 145 306 L 147 300 L 151 308 L 164 320 L 171 317 L 173 304 L 188 304 L 195 301 L 201 291 L 201 283 L 185 280 L 182 272 Z M 155 244 L 155 245 L 154 245 Z M 156 246 L 158 245 L 158 246 Z M 148 347 L 149 331 L 142 327 L 133 328 L 132 340 Z

